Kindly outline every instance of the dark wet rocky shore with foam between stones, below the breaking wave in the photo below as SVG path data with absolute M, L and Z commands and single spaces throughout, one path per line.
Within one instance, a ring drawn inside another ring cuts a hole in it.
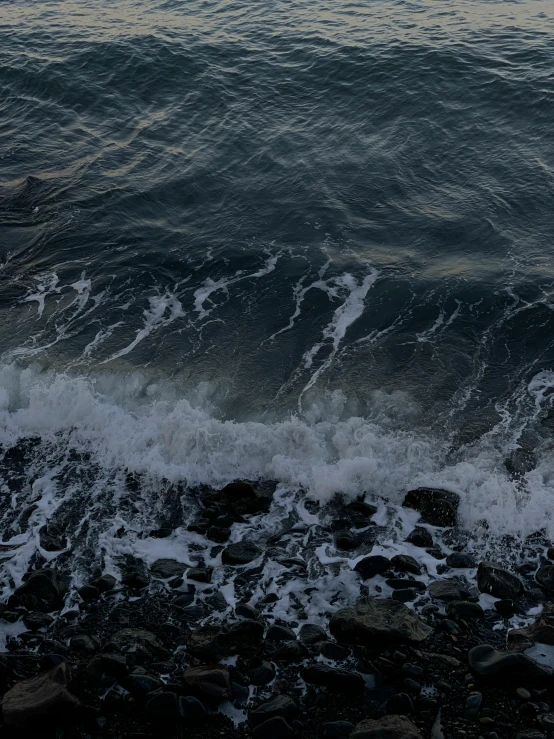
M 274 492 L 245 481 L 199 491 L 187 530 L 207 543 L 193 566 L 127 555 L 118 576 L 91 563 L 95 576 L 77 588 L 63 556 L 40 554 L 64 550 L 63 528 L 41 528 L 32 566 L 0 605 L 3 736 L 550 739 L 549 542 L 538 534 L 510 568 L 477 561 L 457 532 L 458 496 L 423 488 L 403 504 L 419 514 L 405 541 L 421 556 L 387 557 L 372 553 L 377 508 L 337 500 L 318 535 L 355 560 L 355 597 L 337 598 L 318 623 L 298 598 L 287 621 L 279 593 L 258 597 L 255 584 L 278 561 L 310 594 L 308 563 L 281 546 L 305 540 L 306 527 L 265 544 L 231 540 L 233 527 L 268 514 Z M 166 524 L 150 538 L 173 536 Z M 232 574 L 232 595 L 212 586 L 214 561 Z

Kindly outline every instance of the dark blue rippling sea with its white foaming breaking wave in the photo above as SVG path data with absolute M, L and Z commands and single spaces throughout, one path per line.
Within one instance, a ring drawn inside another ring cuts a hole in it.
M 3 442 L 554 531 L 553 121 L 550 2 L 2 4 Z

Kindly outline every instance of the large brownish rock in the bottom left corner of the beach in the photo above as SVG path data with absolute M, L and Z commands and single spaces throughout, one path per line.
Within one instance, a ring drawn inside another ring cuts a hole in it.
M 68 690 L 71 671 L 61 663 L 43 675 L 16 683 L 2 699 L 2 714 L 8 726 L 43 728 L 76 719 L 79 700 Z

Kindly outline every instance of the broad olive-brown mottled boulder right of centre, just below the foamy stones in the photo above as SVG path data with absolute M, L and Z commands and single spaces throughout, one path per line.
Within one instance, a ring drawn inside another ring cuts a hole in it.
M 432 632 L 403 603 L 377 598 L 362 598 L 354 607 L 340 609 L 329 628 L 337 641 L 361 646 L 417 643 Z

